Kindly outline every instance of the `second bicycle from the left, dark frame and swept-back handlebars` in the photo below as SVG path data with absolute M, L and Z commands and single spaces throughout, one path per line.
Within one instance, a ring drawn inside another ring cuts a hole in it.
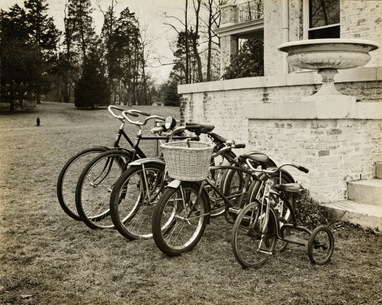
M 115 106 L 112 106 L 115 108 Z M 122 109 L 122 108 L 120 108 Z M 141 121 L 131 120 L 127 114 L 138 116 L 138 114 L 148 115 Z M 141 140 L 167 140 L 167 137 L 142 136 L 142 128 L 151 119 L 160 119 L 165 121 L 166 118 L 158 115 L 150 115 L 139 110 L 124 110 L 122 112 L 123 124 L 120 127 L 116 140 L 119 141 L 121 136 L 131 144 L 131 149 L 121 148 L 119 146 L 112 147 L 110 150 L 104 151 L 94 159 L 92 159 L 82 170 L 75 188 L 75 204 L 80 219 L 91 229 L 112 228 L 113 224 L 109 218 L 109 198 L 112 188 L 117 178 L 127 170 L 129 164 L 133 160 L 147 158 L 143 151 L 139 148 Z M 172 124 L 176 121 L 171 118 Z M 134 124 L 139 127 L 134 143 L 123 131 L 125 122 Z M 185 139 L 186 136 L 176 136 L 174 139 Z

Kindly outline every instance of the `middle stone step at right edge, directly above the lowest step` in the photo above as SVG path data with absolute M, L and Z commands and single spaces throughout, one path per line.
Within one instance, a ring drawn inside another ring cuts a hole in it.
M 382 179 L 347 182 L 347 198 L 382 206 Z

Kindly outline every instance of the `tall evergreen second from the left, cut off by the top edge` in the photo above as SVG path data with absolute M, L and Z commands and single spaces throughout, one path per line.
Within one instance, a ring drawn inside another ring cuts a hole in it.
M 26 9 L 27 32 L 31 41 L 37 46 L 40 57 L 39 73 L 36 75 L 36 100 L 40 104 L 41 92 L 46 92 L 49 87 L 48 72 L 55 56 L 57 41 L 60 37 L 53 23 L 53 18 L 47 16 L 48 4 L 46 0 L 27 0 L 24 2 Z

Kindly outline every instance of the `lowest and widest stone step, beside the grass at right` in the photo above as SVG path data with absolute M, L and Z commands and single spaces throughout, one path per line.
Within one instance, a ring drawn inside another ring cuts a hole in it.
M 379 231 L 382 231 L 382 205 L 354 200 L 321 203 L 320 205 L 325 207 L 333 221 L 347 221 L 360 225 L 364 229 L 379 228 Z

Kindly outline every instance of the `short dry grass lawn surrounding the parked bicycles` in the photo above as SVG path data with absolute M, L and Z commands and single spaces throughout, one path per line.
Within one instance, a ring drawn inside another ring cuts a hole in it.
M 178 108 L 137 108 L 180 117 Z M 382 238 L 348 225 L 335 228 L 335 252 L 325 266 L 289 245 L 259 268 L 243 270 L 224 218 L 212 220 L 195 249 L 176 258 L 152 239 L 129 241 L 70 219 L 56 198 L 61 168 L 83 148 L 111 145 L 119 126 L 106 109 L 73 104 L 43 102 L 33 112 L 0 114 L 0 304 L 376 304 L 382 298 Z M 137 128 L 125 131 L 134 136 Z M 154 142 L 141 143 L 153 156 Z

